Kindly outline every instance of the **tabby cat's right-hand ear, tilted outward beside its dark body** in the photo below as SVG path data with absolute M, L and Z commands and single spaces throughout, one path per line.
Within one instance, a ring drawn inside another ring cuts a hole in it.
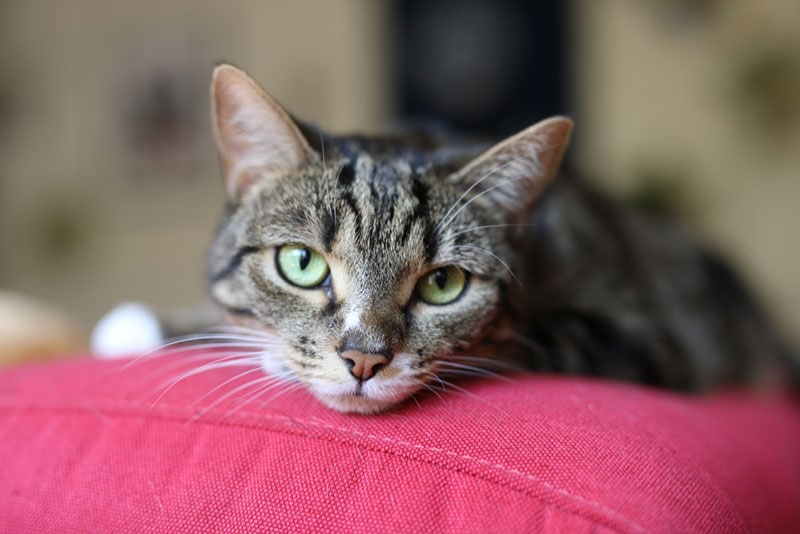
M 494 145 L 451 178 L 482 202 L 525 218 L 558 172 L 571 133 L 570 119 L 551 117 Z

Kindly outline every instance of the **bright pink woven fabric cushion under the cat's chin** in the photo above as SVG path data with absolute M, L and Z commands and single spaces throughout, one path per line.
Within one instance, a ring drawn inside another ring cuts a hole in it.
M 796 399 L 527 376 L 354 416 L 124 365 L 0 373 L 0 531 L 800 532 Z

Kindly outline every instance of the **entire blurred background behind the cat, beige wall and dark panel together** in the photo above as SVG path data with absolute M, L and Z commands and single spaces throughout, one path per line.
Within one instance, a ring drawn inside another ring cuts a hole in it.
M 800 2 L 0 0 L 0 288 L 84 328 L 201 303 L 221 59 L 333 132 L 550 114 L 569 159 L 674 213 L 800 329 Z

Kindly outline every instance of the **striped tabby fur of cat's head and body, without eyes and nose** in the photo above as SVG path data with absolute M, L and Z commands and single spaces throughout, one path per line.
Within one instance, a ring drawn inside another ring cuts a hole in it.
M 279 340 L 267 371 L 334 409 L 389 408 L 479 358 L 704 390 L 753 379 L 782 350 L 716 257 L 574 176 L 553 179 L 568 119 L 487 149 L 323 134 L 229 65 L 211 95 L 228 193 L 211 296 Z M 328 281 L 284 280 L 285 244 L 322 254 Z M 467 289 L 426 304 L 415 284 L 448 265 Z M 373 375 L 353 374 L 348 354 L 373 355 Z

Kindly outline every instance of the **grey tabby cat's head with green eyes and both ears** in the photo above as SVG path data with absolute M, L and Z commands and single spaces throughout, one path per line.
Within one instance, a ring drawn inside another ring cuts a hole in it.
M 232 322 L 280 340 L 267 372 L 366 413 L 502 350 L 493 342 L 519 291 L 513 236 L 557 169 L 568 119 L 465 159 L 446 146 L 314 138 L 229 65 L 211 97 L 228 196 L 211 295 Z

